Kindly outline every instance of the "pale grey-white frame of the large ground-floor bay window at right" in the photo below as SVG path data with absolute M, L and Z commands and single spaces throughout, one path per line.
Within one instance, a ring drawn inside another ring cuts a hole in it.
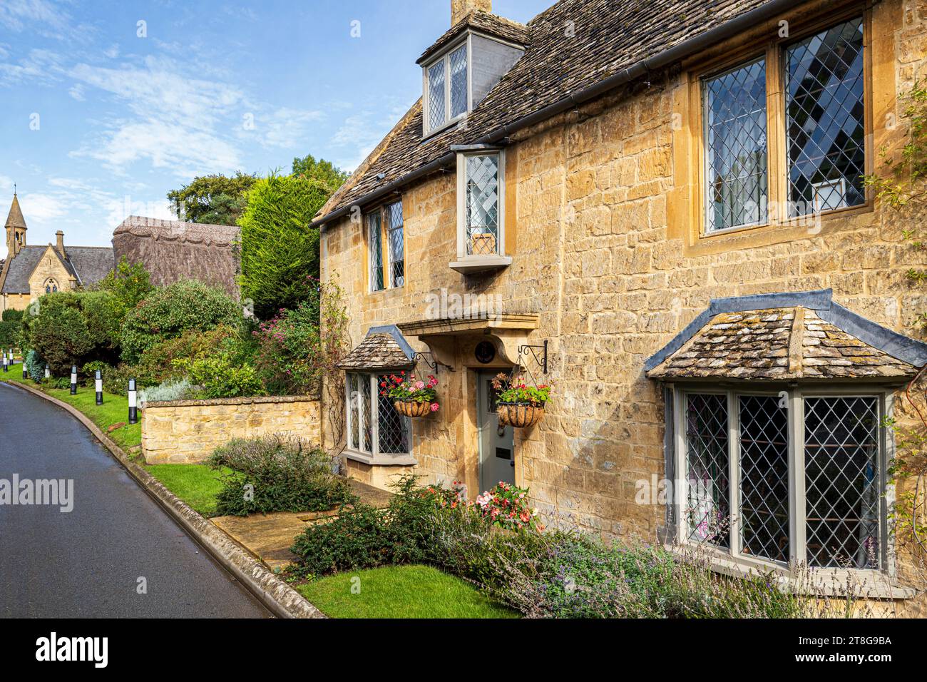
M 865 385 L 847 387 L 802 386 L 792 388 L 770 389 L 768 386 L 744 384 L 733 388 L 719 389 L 705 384 L 677 384 L 673 387 L 673 467 L 675 470 L 675 488 L 673 504 L 675 506 L 676 544 L 681 547 L 699 547 L 713 564 L 725 573 L 745 573 L 771 571 L 788 573 L 789 568 L 779 561 L 757 559 L 753 555 L 740 552 L 741 537 L 739 525 L 739 450 L 738 450 L 738 395 L 781 395 L 787 394 L 788 434 L 789 434 L 789 562 L 791 566 L 806 563 L 806 496 L 805 496 L 805 400 L 817 397 L 874 397 L 879 408 L 882 424 L 886 415 L 891 415 L 894 408 L 894 393 L 890 390 Z M 689 394 L 715 394 L 727 396 L 728 408 L 728 462 L 729 462 L 729 506 L 730 506 L 730 549 L 716 547 L 707 543 L 698 543 L 689 539 L 690 529 L 684 505 L 689 498 L 689 482 L 686 460 L 686 396 Z M 886 578 L 895 577 L 894 546 L 891 540 L 891 524 L 888 510 L 894 500 L 894 484 L 888 479 L 888 463 L 894 457 L 893 439 L 889 429 L 880 426 L 879 434 L 879 561 L 878 569 L 840 569 L 817 568 L 821 578 L 825 576 L 833 583 L 844 583 L 850 579 L 862 581 L 868 588 L 881 589 L 886 586 Z M 822 583 L 823 587 L 827 587 Z

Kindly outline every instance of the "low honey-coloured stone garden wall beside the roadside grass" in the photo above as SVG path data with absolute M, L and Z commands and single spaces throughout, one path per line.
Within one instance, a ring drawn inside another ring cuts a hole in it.
M 303 396 L 148 403 L 142 453 L 148 464 L 196 464 L 233 438 L 281 434 L 320 443 L 319 401 Z

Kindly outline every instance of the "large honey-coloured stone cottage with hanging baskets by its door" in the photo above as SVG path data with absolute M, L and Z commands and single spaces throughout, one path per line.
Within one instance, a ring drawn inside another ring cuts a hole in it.
M 883 418 L 927 363 L 925 256 L 861 176 L 925 46 L 919 0 L 452 0 L 423 97 L 313 223 L 349 471 L 511 481 L 552 523 L 910 596 Z M 513 367 L 553 384 L 533 428 L 495 415 Z M 378 394 L 400 369 L 437 413 Z

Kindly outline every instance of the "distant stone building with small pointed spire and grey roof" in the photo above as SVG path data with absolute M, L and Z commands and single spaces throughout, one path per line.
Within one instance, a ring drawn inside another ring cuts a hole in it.
M 90 287 L 113 269 L 113 250 L 109 247 L 65 247 L 61 230 L 54 246 L 30 246 L 27 230 L 14 192 L 6 216 L 6 260 L 0 265 L 0 312 L 7 308 L 25 310 L 30 302 L 52 291 Z

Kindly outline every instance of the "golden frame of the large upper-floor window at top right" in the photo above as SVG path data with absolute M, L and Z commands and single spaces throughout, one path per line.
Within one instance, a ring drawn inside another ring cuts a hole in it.
M 794 18 L 793 18 L 794 17 Z M 788 199 L 788 149 L 786 132 L 786 92 L 784 53 L 788 45 L 800 42 L 808 35 L 820 32 L 849 19 L 863 20 L 863 87 L 865 126 L 865 173 L 873 172 L 874 149 L 880 141 L 880 132 L 874 131 L 873 111 L 885 106 L 886 96 L 873 91 L 873 78 L 880 82 L 895 81 L 894 69 L 880 62 L 874 71 L 874 52 L 894 50 L 888 45 L 891 32 L 873 30 L 873 8 L 870 3 L 857 3 L 835 11 L 832 6 L 819 3 L 802 13 L 792 12 L 768 21 L 754 32 L 745 33 L 733 41 L 716 45 L 699 58 L 682 64 L 681 84 L 674 97 L 673 147 L 675 189 L 670 200 L 670 237 L 685 239 L 685 255 L 725 251 L 731 244 L 758 246 L 818 234 L 833 220 L 872 212 L 874 196 L 866 190 L 865 202 L 856 206 L 832 209 L 804 216 L 790 217 L 781 207 Z M 780 19 L 789 21 L 787 37 L 779 36 Z M 888 20 L 881 16 L 882 21 Z M 770 38 L 769 36 L 772 36 Z M 873 39 L 878 44 L 873 44 Z M 705 177 L 705 109 L 703 79 L 736 69 L 751 60 L 764 58 L 767 72 L 767 150 L 768 150 L 768 220 L 760 224 L 706 230 L 707 182 Z M 885 89 L 889 88 L 885 85 Z M 894 87 L 891 101 L 894 102 Z M 781 213 L 785 213 L 782 215 Z M 673 227 L 673 223 L 679 225 Z

